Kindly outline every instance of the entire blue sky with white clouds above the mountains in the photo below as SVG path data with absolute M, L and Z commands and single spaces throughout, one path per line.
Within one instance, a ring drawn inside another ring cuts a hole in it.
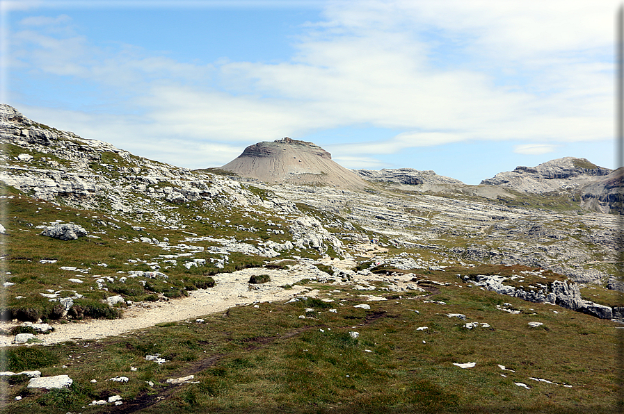
M 618 1 L 0 2 L 0 101 L 191 169 L 314 142 L 351 169 L 477 185 L 616 168 Z

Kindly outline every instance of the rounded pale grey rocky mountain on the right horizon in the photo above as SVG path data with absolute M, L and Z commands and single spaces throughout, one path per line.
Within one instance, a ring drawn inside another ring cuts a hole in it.
M 517 167 L 511 172 L 499 172 L 493 178 L 481 181 L 481 184 L 544 194 L 581 188 L 600 176 L 611 174 L 611 171 L 585 158 L 564 157 L 541 163 L 537 167 Z

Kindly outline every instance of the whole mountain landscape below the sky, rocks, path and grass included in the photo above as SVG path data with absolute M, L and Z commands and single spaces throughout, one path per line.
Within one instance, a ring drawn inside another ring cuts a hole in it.
M 621 169 L 190 170 L 8 105 L 0 140 L 10 411 L 611 412 Z

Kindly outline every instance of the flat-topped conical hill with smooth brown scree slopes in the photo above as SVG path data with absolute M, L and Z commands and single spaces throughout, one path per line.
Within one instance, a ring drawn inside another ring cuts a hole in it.
M 368 186 L 357 174 L 335 163 L 331 154 L 318 145 L 291 138 L 250 145 L 221 169 L 266 183 L 328 185 L 349 190 Z

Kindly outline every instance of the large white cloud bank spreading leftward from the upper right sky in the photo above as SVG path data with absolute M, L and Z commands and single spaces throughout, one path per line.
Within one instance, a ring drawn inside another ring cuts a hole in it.
M 44 35 L 38 26 L 67 19 L 29 17 L 22 24 L 30 30 L 13 35 L 13 58 L 20 70 L 76 76 L 123 94 L 127 100 L 117 113 L 138 108 L 145 114 L 111 115 L 108 124 L 102 124 L 105 117 L 86 116 L 99 122 L 97 128 L 63 115 L 93 134 L 84 133 L 87 138 L 131 138 L 150 154 L 157 151 L 152 142 L 190 142 L 172 152 L 175 159 L 196 165 L 205 156 L 221 165 L 234 148 L 261 140 L 344 126 L 402 131 L 390 140 L 333 147 L 336 159 L 368 165 L 376 162 L 370 154 L 465 140 L 610 137 L 615 6 L 579 0 L 328 3 L 322 22 L 302 28 L 291 60 L 203 66 L 129 45 L 102 49 L 80 35 Z M 198 151 L 206 142 L 237 144 Z M 515 152 L 553 148 L 527 144 Z M 196 154 L 184 158 L 191 150 Z

